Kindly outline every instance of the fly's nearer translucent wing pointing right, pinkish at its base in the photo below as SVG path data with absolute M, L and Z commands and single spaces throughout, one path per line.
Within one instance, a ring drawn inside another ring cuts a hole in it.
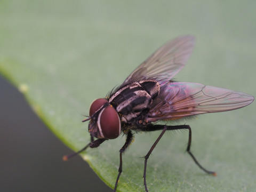
M 161 86 L 153 101 L 147 121 L 179 119 L 191 115 L 234 110 L 249 105 L 252 95 L 202 85 L 171 82 Z

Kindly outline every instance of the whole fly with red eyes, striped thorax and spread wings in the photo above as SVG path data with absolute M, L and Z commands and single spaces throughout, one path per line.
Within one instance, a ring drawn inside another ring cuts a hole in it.
M 191 128 L 189 125 L 170 126 L 156 124 L 159 121 L 172 121 L 188 116 L 234 110 L 249 105 L 252 95 L 222 89 L 199 83 L 175 82 L 173 77 L 185 66 L 194 49 L 194 36 L 180 36 L 167 42 L 136 68 L 117 89 L 105 98 L 92 102 L 89 121 L 91 142 L 82 150 L 69 156 L 67 160 L 86 148 L 99 147 L 102 142 L 126 135 L 124 146 L 119 150 L 119 169 L 114 191 L 122 173 L 122 156 L 133 140 L 136 132 L 162 130 L 145 156 L 143 181 L 146 182 L 147 161 L 158 141 L 169 130 L 188 130 L 187 152 L 204 172 L 206 170 L 190 151 Z M 94 140 L 94 138 L 96 138 Z

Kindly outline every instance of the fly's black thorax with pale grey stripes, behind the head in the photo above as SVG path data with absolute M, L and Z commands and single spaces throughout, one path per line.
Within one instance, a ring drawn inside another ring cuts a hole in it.
M 110 95 L 109 102 L 121 114 L 124 123 L 130 123 L 134 118 L 141 115 L 142 111 L 148 110 L 154 98 L 160 91 L 160 85 L 152 79 L 128 84 Z

